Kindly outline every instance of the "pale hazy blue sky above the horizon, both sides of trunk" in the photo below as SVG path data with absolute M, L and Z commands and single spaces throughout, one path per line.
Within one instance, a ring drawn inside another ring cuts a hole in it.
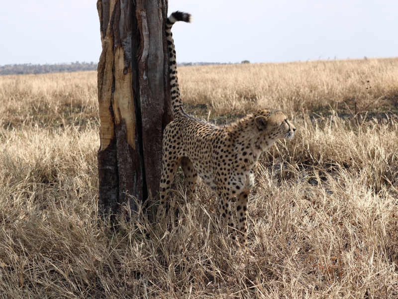
M 178 62 L 283 62 L 398 56 L 397 0 L 169 0 Z M 0 65 L 95 61 L 95 0 L 4 1 Z

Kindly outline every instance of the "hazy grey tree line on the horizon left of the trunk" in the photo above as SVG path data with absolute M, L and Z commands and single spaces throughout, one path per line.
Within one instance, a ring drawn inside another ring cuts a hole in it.
M 57 64 L 6 64 L 0 66 L 0 75 L 17 74 L 45 74 L 45 73 L 69 73 L 80 71 L 97 70 L 98 63 L 92 62 L 71 62 Z

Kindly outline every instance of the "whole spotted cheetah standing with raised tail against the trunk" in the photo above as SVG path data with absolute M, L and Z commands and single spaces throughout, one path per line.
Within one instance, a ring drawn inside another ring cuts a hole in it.
M 190 22 L 189 13 L 173 12 L 166 21 L 169 75 L 173 121 L 163 133 L 160 205 L 157 219 L 163 215 L 171 197 L 169 191 L 181 165 L 187 196 L 195 195 L 198 175 L 218 194 L 217 203 L 223 226 L 234 242 L 247 247 L 247 201 L 254 184 L 253 166 L 260 154 L 279 139 L 293 138 L 296 128 L 285 113 L 258 110 L 230 125 L 218 127 L 188 115 L 182 104 L 177 78 L 176 51 L 171 27 L 177 21 Z M 236 201 L 235 226 L 231 202 Z M 225 223 L 227 222 L 227 223 Z

